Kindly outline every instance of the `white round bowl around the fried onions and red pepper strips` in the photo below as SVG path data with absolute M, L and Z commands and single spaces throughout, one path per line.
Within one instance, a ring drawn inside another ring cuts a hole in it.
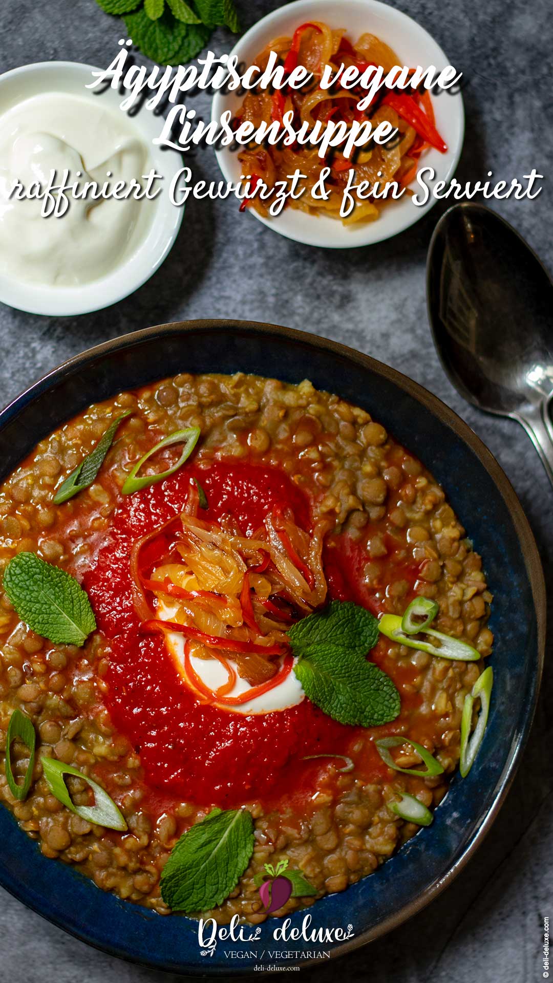
M 344 28 L 352 41 L 367 31 L 376 34 L 396 51 L 400 65 L 434 65 L 440 71 L 450 64 L 428 31 L 406 14 L 378 0 L 296 0 L 295 3 L 287 3 L 250 28 L 233 47 L 231 54 L 238 56 L 239 64 L 251 65 L 256 55 L 275 37 L 282 34 L 291 36 L 294 29 L 307 21 L 323 21 L 333 29 Z M 212 119 L 219 119 L 226 109 L 234 114 L 242 99 L 243 95 L 234 92 L 216 92 Z M 440 153 L 431 147 L 425 151 L 420 166 L 433 167 L 436 180 L 449 181 L 461 156 L 464 134 L 461 93 L 450 95 L 441 92 L 438 98 L 433 98 L 433 107 L 436 127 L 448 150 Z M 223 147 L 216 151 L 216 157 L 225 180 L 239 181 L 242 170 L 236 151 Z M 352 225 L 343 225 L 338 219 L 327 215 L 309 215 L 289 206 L 284 207 L 275 218 L 265 218 L 254 208 L 247 210 L 264 225 L 288 239 L 308 246 L 347 249 L 390 239 L 422 218 L 434 202 L 435 199 L 430 197 L 426 204 L 414 205 L 410 196 L 405 194 L 399 201 L 387 202 L 375 221 Z

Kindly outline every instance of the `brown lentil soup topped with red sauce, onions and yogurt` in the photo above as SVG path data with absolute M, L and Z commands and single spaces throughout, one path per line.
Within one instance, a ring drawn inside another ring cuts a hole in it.
M 122 414 L 92 483 L 55 504 Z M 157 441 L 195 429 L 186 462 L 154 483 L 178 463 L 167 442 L 124 492 Z M 165 379 L 42 440 L 0 490 L 0 531 L 3 571 L 37 554 L 82 585 L 96 623 L 83 645 L 54 643 L 6 583 L 0 594 L 0 794 L 47 857 L 160 914 L 189 911 L 163 892 L 171 850 L 214 810 L 246 812 L 247 865 L 202 914 L 258 924 L 345 890 L 431 821 L 491 652 L 492 599 L 444 491 L 367 412 L 309 381 Z M 346 603 L 404 625 L 416 599 L 469 659 L 430 651 L 416 625 L 401 641 L 381 630 L 365 655 L 399 695 L 387 723 L 348 723 L 305 695 L 294 626 Z M 26 797 L 13 791 L 30 764 L 27 742 L 8 742 L 16 710 L 36 735 Z M 72 808 L 45 758 L 80 773 L 66 779 Z M 125 829 L 87 818 L 89 779 Z M 278 861 L 301 880 L 269 911 L 259 889 Z

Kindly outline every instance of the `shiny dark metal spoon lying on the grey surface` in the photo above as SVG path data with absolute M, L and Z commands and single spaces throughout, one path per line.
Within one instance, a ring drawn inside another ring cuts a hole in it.
M 438 222 L 426 264 L 442 365 L 469 403 L 518 420 L 553 485 L 553 281 L 522 236 L 483 204 Z

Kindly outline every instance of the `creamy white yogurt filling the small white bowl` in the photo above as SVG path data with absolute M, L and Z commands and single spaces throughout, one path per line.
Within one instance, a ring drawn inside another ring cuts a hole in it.
M 29 189 L 68 182 L 126 184 L 150 169 L 148 148 L 132 120 L 101 97 L 65 92 L 35 95 L 0 117 L 0 265 L 17 280 L 51 286 L 91 283 L 127 260 L 143 242 L 151 202 L 74 199 L 60 217 L 40 212 L 42 200 L 10 198 L 14 183 Z M 108 173 L 110 172 L 110 176 Z M 55 193 L 54 193 L 55 194 Z

